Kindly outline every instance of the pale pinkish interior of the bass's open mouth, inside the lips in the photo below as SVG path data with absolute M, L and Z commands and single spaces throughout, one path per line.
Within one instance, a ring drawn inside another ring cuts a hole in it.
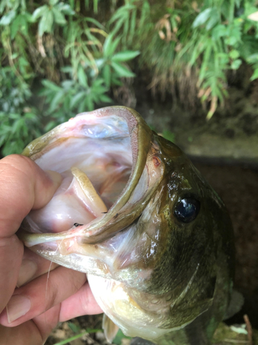
M 105 118 L 79 115 L 41 153 L 35 159 L 36 164 L 43 170 L 61 173 L 63 181 L 50 203 L 27 217 L 34 233 L 59 233 L 75 223 L 88 224 L 100 217 L 118 199 L 131 174 L 127 122 L 116 115 Z M 85 195 L 72 168 L 87 175 L 95 196 Z

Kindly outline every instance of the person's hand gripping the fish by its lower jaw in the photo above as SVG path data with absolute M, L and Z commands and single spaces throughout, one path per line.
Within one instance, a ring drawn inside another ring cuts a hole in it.
M 27 157 L 0 160 L 1 345 L 40 345 L 58 322 L 102 313 L 85 273 L 50 264 L 15 235 L 30 210 L 45 206 L 60 184 L 61 175 L 43 172 Z

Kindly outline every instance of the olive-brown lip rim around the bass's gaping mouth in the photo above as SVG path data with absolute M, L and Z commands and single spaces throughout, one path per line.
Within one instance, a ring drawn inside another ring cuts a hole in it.
M 63 240 L 74 236 L 77 237 L 78 243 L 96 244 L 103 242 L 105 239 L 115 235 L 119 230 L 122 230 L 122 228 L 125 228 L 125 226 L 121 227 L 120 210 L 127 204 L 127 201 L 129 201 L 133 190 L 135 190 L 136 186 L 138 185 L 138 181 L 140 180 L 142 171 L 146 165 L 147 157 L 150 155 L 151 147 L 153 146 L 153 131 L 149 128 L 149 126 L 147 126 L 144 119 L 140 117 L 136 110 L 122 106 L 111 106 L 94 110 L 92 112 L 83 112 L 76 115 L 74 119 L 69 121 L 76 121 L 76 119 L 78 120 L 80 116 L 83 115 L 105 117 L 110 113 L 125 119 L 131 138 L 131 151 L 133 157 L 131 175 L 127 185 L 122 190 L 120 197 L 118 197 L 118 200 L 116 200 L 108 212 L 103 214 L 102 217 L 94 219 L 94 221 L 87 225 L 78 226 L 76 229 L 72 228 L 66 232 L 55 234 L 35 234 L 28 233 L 23 228 L 23 230 L 19 232 L 19 237 L 23 240 L 26 246 L 34 246 L 35 244 L 52 242 L 54 240 Z M 69 125 L 69 121 L 68 123 L 65 123 L 67 126 Z M 25 150 L 23 150 L 22 154 L 33 159 L 35 155 L 39 154 L 39 152 L 41 152 L 43 148 L 45 148 L 51 141 L 54 131 L 58 131 L 58 129 L 61 128 L 61 126 L 65 126 L 65 124 L 54 128 L 54 130 L 48 132 L 46 135 L 43 135 L 43 137 L 32 141 L 32 143 L 29 144 Z M 136 214 L 135 217 L 131 219 L 130 223 L 139 217 L 139 215 L 139 213 Z

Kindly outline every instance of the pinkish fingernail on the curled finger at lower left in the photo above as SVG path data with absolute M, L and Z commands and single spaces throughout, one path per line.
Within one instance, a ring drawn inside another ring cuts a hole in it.
M 30 299 L 21 295 L 11 297 L 6 306 L 6 313 L 9 324 L 30 311 Z

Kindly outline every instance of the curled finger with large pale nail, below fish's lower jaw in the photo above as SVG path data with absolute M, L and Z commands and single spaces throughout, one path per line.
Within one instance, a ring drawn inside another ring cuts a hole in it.
M 41 315 L 76 293 L 85 282 L 85 273 L 65 267 L 58 267 L 49 275 L 41 275 L 14 291 L 0 315 L 0 324 L 17 326 Z

